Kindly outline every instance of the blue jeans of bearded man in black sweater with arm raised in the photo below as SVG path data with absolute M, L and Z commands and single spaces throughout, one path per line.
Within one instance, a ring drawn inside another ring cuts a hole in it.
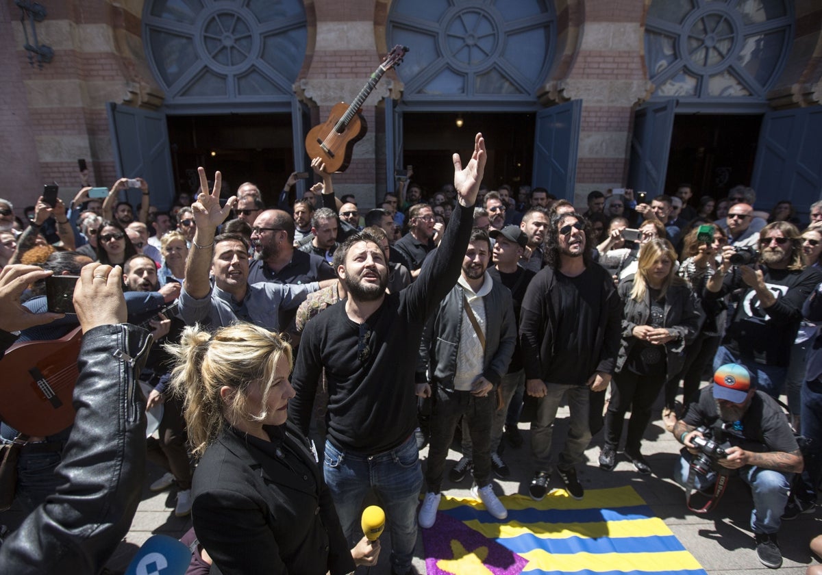
M 352 545 L 358 539 L 354 535 L 363 499 L 374 490 L 391 533 L 391 566 L 397 573 L 409 571 L 417 545 L 417 505 L 423 488 L 423 469 L 414 436 L 396 449 L 376 455 L 342 451 L 326 440 L 323 472 L 339 523 Z

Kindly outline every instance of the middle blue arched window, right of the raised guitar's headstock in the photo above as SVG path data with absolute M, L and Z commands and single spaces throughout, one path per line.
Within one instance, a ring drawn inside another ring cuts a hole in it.
M 395 0 L 386 35 L 410 48 L 397 68 L 406 103 L 534 103 L 556 14 L 546 0 Z

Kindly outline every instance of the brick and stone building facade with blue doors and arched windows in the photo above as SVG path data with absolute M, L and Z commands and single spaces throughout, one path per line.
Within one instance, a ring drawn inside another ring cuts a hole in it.
M 308 169 L 308 129 L 398 44 L 335 177 L 363 207 L 408 166 L 429 191 L 448 183 L 475 131 L 488 186 L 580 206 L 679 182 L 800 211 L 822 192 L 818 0 L 42 0 L 40 21 L 31 3 L 0 0 L 0 196 L 18 213 L 44 183 L 73 196 L 78 159 L 92 185 L 145 177 L 161 208 L 198 165 L 273 200 Z M 25 48 L 41 44 L 49 62 Z

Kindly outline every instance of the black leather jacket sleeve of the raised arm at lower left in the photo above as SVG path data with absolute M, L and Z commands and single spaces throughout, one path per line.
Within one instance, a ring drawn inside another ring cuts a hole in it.
M 151 341 L 130 324 L 83 336 L 77 415 L 56 471 L 62 485 L 0 546 L 3 573 L 99 573 L 127 534 L 145 478 L 136 382 Z

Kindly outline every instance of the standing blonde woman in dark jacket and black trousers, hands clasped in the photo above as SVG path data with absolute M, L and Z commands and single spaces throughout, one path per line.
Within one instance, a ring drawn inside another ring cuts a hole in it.
M 640 453 L 651 407 L 667 374 L 679 374 L 686 343 L 699 327 L 688 285 L 674 271 L 677 252 L 671 242 L 653 239 L 640 248 L 636 274 L 619 284 L 623 302 L 622 343 L 605 416 L 605 444 L 599 467 L 616 464 L 622 424 L 630 407 L 625 454 L 640 473 L 651 467 Z

